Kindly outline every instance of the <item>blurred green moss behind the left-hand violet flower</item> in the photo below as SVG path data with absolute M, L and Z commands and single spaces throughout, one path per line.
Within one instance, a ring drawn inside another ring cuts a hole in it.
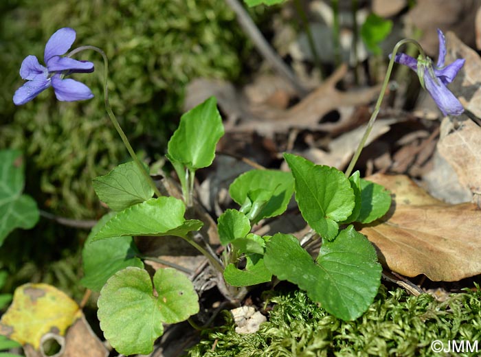
M 40 181 L 40 205 L 74 218 L 95 216 L 91 179 L 127 159 L 104 110 L 102 58 L 93 51 L 76 56 L 96 65 L 94 73 L 74 76 L 93 100 L 60 103 L 49 90 L 15 107 L 25 56 L 43 62 L 47 39 L 65 26 L 77 32 L 74 47 L 104 49 L 111 104 L 124 130 L 135 148 L 163 154 L 185 85 L 201 76 L 236 80 L 251 49 L 223 0 L 10 0 L 0 10 L 0 148 L 23 150 L 31 192 Z

